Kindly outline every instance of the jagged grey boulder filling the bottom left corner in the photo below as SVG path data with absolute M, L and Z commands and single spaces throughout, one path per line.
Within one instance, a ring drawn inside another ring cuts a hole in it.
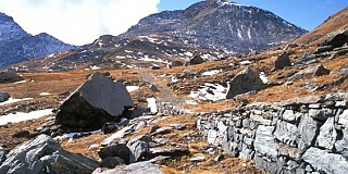
M 14 148 L 0 166 L 0 173 L 91 173 L 97 161 L 74 154 L 50 136 L 39 135 Z

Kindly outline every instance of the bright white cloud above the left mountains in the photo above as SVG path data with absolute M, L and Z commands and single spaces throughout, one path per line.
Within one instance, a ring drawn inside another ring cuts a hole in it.
M 101 35 L 119 35 L 158 12 L 160 0 L 0 0 L 0 12 L 26 32 L 48 33 L 67 44 L 85 45 Z

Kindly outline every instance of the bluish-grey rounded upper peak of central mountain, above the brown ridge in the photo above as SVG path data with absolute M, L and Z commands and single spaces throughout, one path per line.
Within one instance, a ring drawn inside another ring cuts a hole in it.
M 229 2 L 207 0 L 185 10 L 149 15 L 119 37 L 164 35 L 171 41 L 201 48 L 249 52 L 291 40 L 307 30 L 286 22 L 272 12 Z

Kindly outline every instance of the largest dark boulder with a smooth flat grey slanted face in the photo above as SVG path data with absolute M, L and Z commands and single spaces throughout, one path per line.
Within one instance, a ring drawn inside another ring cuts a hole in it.
M 55 121 L 69 130 L 95 130 L 133 107 L 122 82 L 96 73 L 60 105 Z

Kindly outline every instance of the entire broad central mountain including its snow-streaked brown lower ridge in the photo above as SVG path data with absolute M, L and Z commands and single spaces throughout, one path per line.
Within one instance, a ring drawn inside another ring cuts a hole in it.
M 221 60 L 294 39 L 306 30 L 275 14 L 225 0 L 144 17 L 128 32 L 96 39 L 88 48 L 63 51 L 14 65 L 20 71 L 142 69 L 185 63 L 196 54 Z M 139 63 L 140 62 L 140 63 Z

